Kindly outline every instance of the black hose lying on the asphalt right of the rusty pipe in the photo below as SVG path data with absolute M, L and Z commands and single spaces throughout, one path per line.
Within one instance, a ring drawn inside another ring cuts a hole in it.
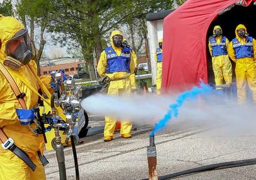
M 175 172 L 173 174 L 167 174 L 167 175 L 162 175 L 158 177 L 159 180 L 164 180 L 164 179 L 173 179 L 174 177 L 179 177 L 182 175 L 187 175 L 187 174 L 194 174 L 198 172 L 204 172 L 208 170 L 220 170 L 224 168 L 235 168 L 239 166 L 248 166 L 248 165 L 255 165 L 256 164 L 256 158 L 255 159 L 244 159 L 244 160 L 239 160 L 239 161 L 229 161 L 225 163 L 217 163 L 213 165 L 206 165 L 206 166 L 200 166 L 197 168 L 192 168 L 189 170 L 184 170 L 181 172 Z M 142 179 L 146 180 L 146 179 Z

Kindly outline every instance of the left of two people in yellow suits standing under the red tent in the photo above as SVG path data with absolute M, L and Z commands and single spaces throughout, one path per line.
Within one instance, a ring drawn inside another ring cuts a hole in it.
M 226 84 L 232 83 L 232 65 L 228 57 L 229 41 L 222 35 L 222 28 L 215 26 L 213 35 L 209 37 L 209 52 L 212 57 L 213 73 L 216 86 L 223 85 L 223 77 Z M 221 89 L 218 88 L 217 89 Z

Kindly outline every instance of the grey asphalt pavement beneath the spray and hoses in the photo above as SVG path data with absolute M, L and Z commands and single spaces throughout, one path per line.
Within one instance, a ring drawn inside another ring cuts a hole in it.
M 103 125 L 103 121 L 99 122 Z M 94 126 L 97 126 L 94 124 Z M 172 174 L 203 165 L 256 158 L 255 131 L 227 132 L 227 125 L 173 122 L 156 134 L 158 175 Z M 137 125 L 133 138 L 103 142 L 103 134 L 80 139 L 77 145 L 80 179 L 144 179 L 148 177 L 146 147 L 152 126 Z M 234 130 L 235 131 L 235 130 Z M 50 162 L 47 179 L 59 179 L 54 151 L 45 153 Z M 67 179 L 76 179 L 72 149 L 65 148 Z M 256 165 L 213 170 L 176 179 L 256 179 Z

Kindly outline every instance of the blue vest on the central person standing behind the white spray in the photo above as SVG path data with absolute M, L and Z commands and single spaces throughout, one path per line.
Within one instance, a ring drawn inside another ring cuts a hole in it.
M 120 56 L 116 54 L 112 46 L 105 48 L 107 54 L 107 73 L 130 72 L 131 51 L 130 48 L 122 48 Z

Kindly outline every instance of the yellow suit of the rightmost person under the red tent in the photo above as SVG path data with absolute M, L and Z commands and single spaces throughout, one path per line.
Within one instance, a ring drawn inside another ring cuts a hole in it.
M 240 28 L 246 27 L 244 25 L 238 25 L 235 30 L 235 35 L 239 42 L 242 45 L 246 44 L 246 38 L 239 37 L 237 30 Z M 246 30 L 247 33 L 247 30 Z M 255 66 L 255 59 L 256 59 L 256 41 L 253 39 L 253 57 L 243 57 L 236 59 L 235 57 L 235 50 L 233 48 L 233 43 L 229 43 L 228 46 L 228 55 L 229 57 L 235 62 L 235 75 L 237 78 L 237 97 L 239 103 L 246 103 L 246 81 L 252 91 L 253 94 L 253 101 L 256 103 L 256 66 Z

